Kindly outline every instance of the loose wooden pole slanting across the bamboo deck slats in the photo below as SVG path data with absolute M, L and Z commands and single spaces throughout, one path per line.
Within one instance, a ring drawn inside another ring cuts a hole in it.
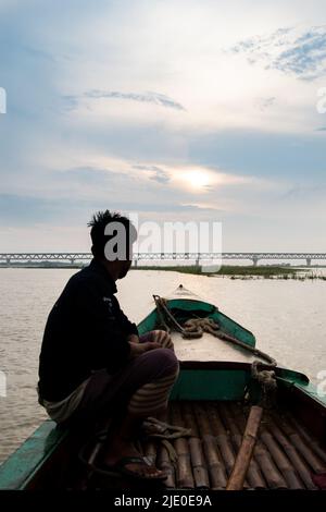
M 226 490 L 241 490 L 243 488 L 243 483 L 256 442 L 262 415 L 262 407 L 258 405 L 253 405 L 251 407 L 240 450 L 237 454 L 237 459 L 227 483 Z

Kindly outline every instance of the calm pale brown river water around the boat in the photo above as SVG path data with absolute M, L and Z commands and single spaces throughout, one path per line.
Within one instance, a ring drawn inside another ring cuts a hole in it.
M 47 315 L 76 270 L 0 269 L 0 370 L 8 395 L 0 397 L 0 462 L 46 418 L 37 403 L 38 354 Z M 153 308 L 152 293 L 179 283 L 218 305 L 252 330 L 258 346 L 313 381 L 326 369 L 326 282 L 231 280 L 167 271 L 133 270 L 118 282 L 118 298 L 135 321 Z

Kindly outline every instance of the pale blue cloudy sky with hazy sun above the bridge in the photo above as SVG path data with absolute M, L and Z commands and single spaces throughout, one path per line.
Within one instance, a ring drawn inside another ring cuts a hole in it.
M 105 208 L 325 252 L 324 0 L 0 0 L 0 252 Z

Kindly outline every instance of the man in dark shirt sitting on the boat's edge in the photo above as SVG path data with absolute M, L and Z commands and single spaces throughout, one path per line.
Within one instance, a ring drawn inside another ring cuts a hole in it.
M 166 410 L 178 362 L 170 336 L 154 330 L 139 337 L 115 297 L 116 281 L 131 266 L 135 227 L 109 210 L 97 212 L 89 227 L 93 259 L 68 280 L 46 325 L 39 402 L 59 424 L 113 417 L 102 470 L 162 479 L 133 441 L 145 418 Z

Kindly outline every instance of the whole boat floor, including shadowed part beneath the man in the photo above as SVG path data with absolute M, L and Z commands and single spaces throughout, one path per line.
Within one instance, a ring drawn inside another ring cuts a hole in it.
M 171 444 L 158 439 L 140 443 L 142 454 L 168 475 L 163 484 L 150 485 L 160 488 L 163 485 L 166 489 L 225 489 L 248 414 L 249 406 L 240 402 L 170 402 L 167 422 L 188 429 L 188 435 L 170 439 Z M 141 483 L 93 471 L 89 464 L 98 465 L 102 442 L 89 442 L 84 437 L 80 444 L 78 435 L 72 434 L 57 451 L 55 460 L 49 461 L 50 465 L 32 479 L 28 488 L 140 489 L 149 485 L 148 480 Z M 326 488 L 326 449 L 288 411 L 265 411 L 243 488 Z

